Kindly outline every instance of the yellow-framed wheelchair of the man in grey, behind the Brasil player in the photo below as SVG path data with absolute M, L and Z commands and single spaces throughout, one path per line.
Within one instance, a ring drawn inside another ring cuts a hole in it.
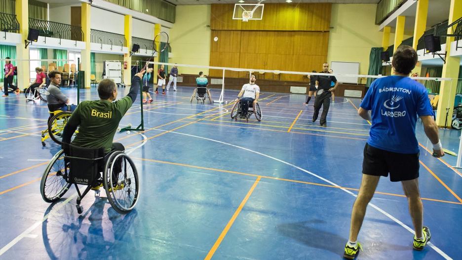
M 62 134 L 64 131 L 64 126 L 66 126 L 69 118 L 71 118 L 71 111 L 62 111 L 56 110 L 50 112 L 50 117 L 48 118 L 48 127 L 41 131 L 41 143 L 42 146 L 46 146 L 45 140 L 51 138 L 56 144 L 62 144 Z M 74 133 L 73 137 L 78 133 L 78 129 Z M 72 139 L 73 140 L 73 139 Z

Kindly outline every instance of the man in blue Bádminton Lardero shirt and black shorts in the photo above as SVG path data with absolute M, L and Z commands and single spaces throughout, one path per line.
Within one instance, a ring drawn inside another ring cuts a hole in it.
M 344 257 L 354 259 L 361 245 L 356 242 L 359 229 L 380 176 L 401 182 L 408 198 L 409 213 L 414 224 L 415 250 L 423 250 L 430 241 L 430 230 L 423 226 L 423 205 L 419 193 L 419 143 L 416 138 L 417 116 L 422 119 L 425 134 L 433 144 L 433 156 L 444 152 L 438 138 L 425 87 L 409 78 L 417 63 L 417 52 L 401 45 L 393 54 L 394 75 L 376 79 L 364 97 L 358 114 L 372 121 L 369 139 L 364 148 L 363 176 L 351 212 L 349 240 Z

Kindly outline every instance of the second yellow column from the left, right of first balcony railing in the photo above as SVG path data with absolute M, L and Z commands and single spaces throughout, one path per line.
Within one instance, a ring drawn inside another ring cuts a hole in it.
M 90 75 L 91 75 L 91 63 L 90 63 L 90 52 L 91 52 L 91 31 L 90 31 L 90 15 L 91 15 L 91 5 L 88 3 L 82 3 L 81 8 L 81 24 L 83 31 L 83 41 L 85 42 L 85 49 L 81 51 L 80 61 L 82 66 L 79 68 L 82 71 L 85 71 L 85 88 L 90 87 Z

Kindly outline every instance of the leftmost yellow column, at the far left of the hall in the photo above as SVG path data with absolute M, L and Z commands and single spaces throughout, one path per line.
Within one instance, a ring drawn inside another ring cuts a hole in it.
M 29 34 L 29 8 L 28 0 L 16 0 L 16 18 L 19 22 L 19 34 L 21 34 L 21 43 L 16 45 L 16 59 L 29 60 L 29 47 L 26 49 L 27 35 Z M 2 57 L 4 58 L 4 57 Z M 18 68 L 18 87 L 19 89 L 27 88 L 30 84 L 30 65 L 29 61 L 12 61 L 13 65 Z

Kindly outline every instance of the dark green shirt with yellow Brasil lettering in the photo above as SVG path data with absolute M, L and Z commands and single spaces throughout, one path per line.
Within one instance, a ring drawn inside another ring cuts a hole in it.
M 85 148 L 104 148 L 110 152 L 118 124 L 133 104 L 126 96 L 116 102 L 107 100 L 83 101 L 69 119 L 78 124 L 78 133 L 71 144 Z

